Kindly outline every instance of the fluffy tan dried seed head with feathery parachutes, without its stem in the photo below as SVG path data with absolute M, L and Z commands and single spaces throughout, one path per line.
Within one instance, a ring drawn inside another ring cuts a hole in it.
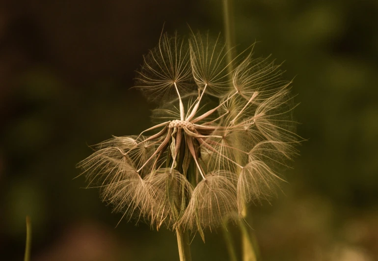
M 144 57 L 135 87 L 159 101 L 157 125 L 95 146 L 78 165 L 114 211 L 203 235 L 274 194 L 297 153 L 291 82 L 252 50 L 230 69 L 227 52 L 219 37 L 162 34 Z

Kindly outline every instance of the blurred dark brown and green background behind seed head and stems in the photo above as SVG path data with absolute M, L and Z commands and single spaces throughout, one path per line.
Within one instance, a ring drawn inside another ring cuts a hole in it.
M 288 184 L 249 220 L 262 261 L 378 260 L 378 1 L 234 0 L 238 51 L 283 62 L 300 146 Z M 87 145 L 150 126 L 129 90 L 170 32 L 223 30 L 220 0 L 0 1 L 0 260 L 178 260 L 173 232 L 121 222 L 77 162 Z M 238 228 L 231 232 L 240 244 Z M 222 232 L 193 261 L 228 260 Z

